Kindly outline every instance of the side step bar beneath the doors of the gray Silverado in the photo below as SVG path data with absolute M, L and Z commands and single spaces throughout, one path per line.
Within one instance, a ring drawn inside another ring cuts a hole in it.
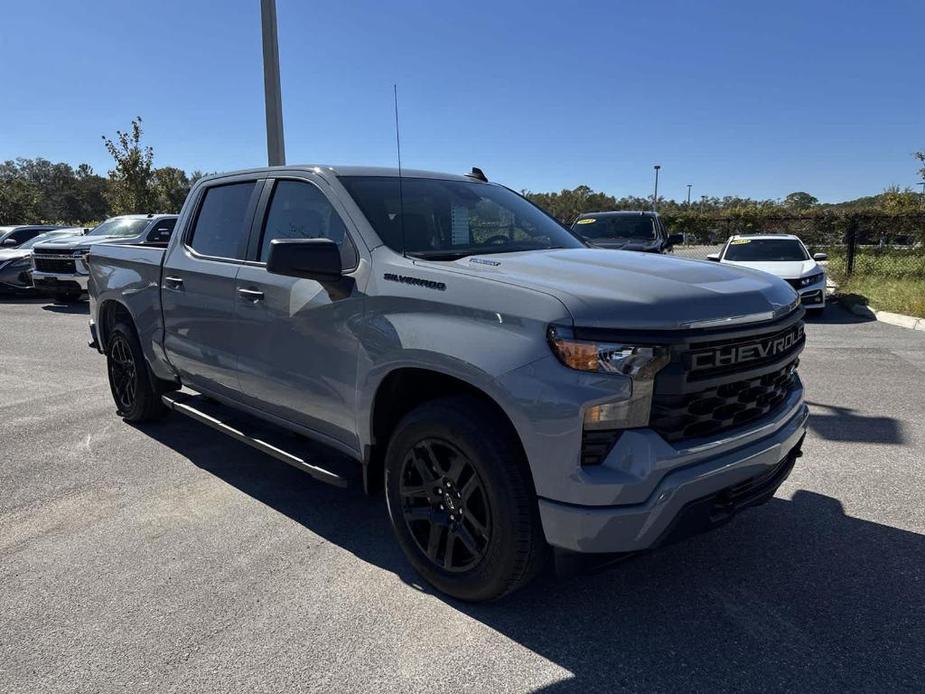
M 272 424 L 260 422 L 247 414 L 210 400 L 204 395 L 174 391 L 162 395 L 161 400 L 174 412 L 195 419 L 197 422 L 212 427 L 226 436 L 256 448 L 261 453 L 266 453 L 277 460 L 307 472 L 321 482 L 333 484 L 336 487 L 350 485 L 347 475 L 339 474 L 310 462 L 304 452 L 287 450 L 293 448 L 293 443 L 296 443 L 295 447 L 299 447 L 298 443 L 303 443 L 305 448 L 310 445 L 311 447 L 319 446 L 319 444 L 312 445 L 304 440 L 300 442 L 295 434 L 279 429 Z M 338 467 L 348 465 L 359 468 L 358 464 L 351 463 L 345 456 L 336 451 L 331 452 L 331 458 L 335 459 L 332 462 Z M 336 460 L 338 458 L 340 460 Z

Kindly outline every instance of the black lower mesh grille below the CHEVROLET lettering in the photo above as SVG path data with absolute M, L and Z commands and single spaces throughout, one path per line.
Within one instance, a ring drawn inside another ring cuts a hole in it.
M 709 436 L 772 414 L 793 389 L 798 359 L 770 373 L 683 394 L 658 394 L 650 426 L 665 440 Z

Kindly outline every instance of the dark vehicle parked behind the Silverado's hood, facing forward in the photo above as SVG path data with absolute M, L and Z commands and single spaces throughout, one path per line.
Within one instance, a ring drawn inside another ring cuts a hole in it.
M 586 212 L 572 231 L 598 248 L 644 253 L 667 253 L 683 240 L 668 233 L 657 212 Z

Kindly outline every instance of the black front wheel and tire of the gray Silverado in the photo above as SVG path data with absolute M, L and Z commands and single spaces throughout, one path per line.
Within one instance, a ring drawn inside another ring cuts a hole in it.
M 547 557 L 519 442 L 471 397 L 428 402 L 389 441 L 385 487 L 398 543 L 421 576 L 460 600 L 496 600 Z

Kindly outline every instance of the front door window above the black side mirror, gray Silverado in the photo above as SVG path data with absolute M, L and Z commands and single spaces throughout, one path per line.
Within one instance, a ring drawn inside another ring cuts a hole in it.
M 345 269 L 356 265 L 356 249 L 337 211 L 318 188 L 303 181 L 277 181 L 267 209 L 260 255 L 265 263 L 270 257 L 273 239 L 331 239 L 340 248 Z

